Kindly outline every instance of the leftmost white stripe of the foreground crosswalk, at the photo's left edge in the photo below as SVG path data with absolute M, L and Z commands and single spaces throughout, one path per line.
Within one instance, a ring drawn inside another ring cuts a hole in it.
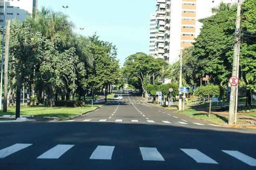
M 6 156 L 9 156 L 10 154 L 18 152 L 18 151 L 25 149 L 26 147 L 29 147 L 31 145 L 32 144 L 17 143 L 15 145 L 12 145 L 10 147 L 2 149 L 2 150 L 0 150 L 0 158 L 5 158 Z

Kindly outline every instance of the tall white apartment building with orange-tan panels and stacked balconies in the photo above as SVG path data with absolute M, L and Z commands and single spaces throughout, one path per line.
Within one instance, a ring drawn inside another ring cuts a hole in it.
M 198 20 L 212 16 L 212 8 L 220 2 L 235 4 L 237 0 L 156 0 L 154 57 L 174 63 L 181 50 L 192 46 L 200 34 L 202 23 Z

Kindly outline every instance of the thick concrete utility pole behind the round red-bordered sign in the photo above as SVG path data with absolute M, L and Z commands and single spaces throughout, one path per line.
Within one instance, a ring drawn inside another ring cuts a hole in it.
M 236 35 L 235 35 L 235 44 L 234 44 L 234 56 L 233 56 L 233 69 L 232 69 L 232 76 L 238 75 L 238 60 L 240 55 L 240 26 L 241 26 L 241 6 L 242 0 L 238 0 L 237 5 L 237 14 L 236 14 Z M 229 115 L 228 115 L 228 124 L 233 125 L 236 123 L 236 115 L 235 115 L 235 107 L 236 106 L 236 90 L 238 90 L 238 86 L 231 86 L 231 93 L 230 93 L 230 103 L 229 103 Z

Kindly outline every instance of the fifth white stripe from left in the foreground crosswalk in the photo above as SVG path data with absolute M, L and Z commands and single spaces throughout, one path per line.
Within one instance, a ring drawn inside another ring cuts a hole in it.
M 210 158 L 209 156 L 205 155 L 204 153 L 200 152 L 197 149 L 180 149 L 185 152 L 188 156 L 193 158 L 198 163 L 205 163 L 205 164 L 218 164 L 215 160 Z

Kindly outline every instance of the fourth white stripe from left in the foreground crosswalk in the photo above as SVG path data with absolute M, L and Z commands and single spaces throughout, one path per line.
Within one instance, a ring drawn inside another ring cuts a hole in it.
M 156 148 L 140 147 L 143 160 L 164 161 L 163 156 Z

